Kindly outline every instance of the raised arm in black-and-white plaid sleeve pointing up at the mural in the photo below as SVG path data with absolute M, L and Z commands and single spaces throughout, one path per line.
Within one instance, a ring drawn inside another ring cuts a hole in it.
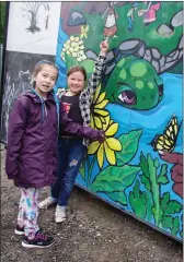
M 99 86 L 102 79 L 102 73 L 103 73 L 103 69 L 106 60 L 106 52 L 108 50 L 107 41 L 105 40 L 102 41 L 100 45 L 100 48 L 101 48 L 101 52 L 99 55 L 99 58 L 95 61 L 94 72 L 92 73 L 85 88 L 85 92 L 89 94 L 91 98 L 93 98 L 96 87 Z

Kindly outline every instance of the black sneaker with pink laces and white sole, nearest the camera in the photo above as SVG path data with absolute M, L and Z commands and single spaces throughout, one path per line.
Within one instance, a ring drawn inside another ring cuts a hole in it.
M 55 242 L 53 237 L 38 231 L 34 239 L 23 237 L 22 247 L 24 248 L 49 248 Z

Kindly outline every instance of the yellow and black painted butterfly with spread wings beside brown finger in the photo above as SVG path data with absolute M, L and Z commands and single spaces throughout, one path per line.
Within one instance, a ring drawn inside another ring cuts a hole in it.
M 181 124 L 182 122 L 179 126 L 177 118 L 175 116 L 172 116 L 172 118 L 168 122 L 163 134 L 156 135 L 154 139 L 151 141 L 150 144 L 153 151 L 172 152 L 176 144 Z

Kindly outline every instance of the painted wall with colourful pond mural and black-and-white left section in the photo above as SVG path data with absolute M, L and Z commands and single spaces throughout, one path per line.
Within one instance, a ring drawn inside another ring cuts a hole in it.
M 39 15 L 31 15 L 36 3 L 10 3 L 3 141 L 11 106 L 28 88 L 36 61 L 55 59 L 56 88 L 66 87 L 70 64 L 82 63 L 90 75 L 107 38 L 91 118 L 106 139 L 90 144 L 76 183 L 181 241 L 183 3 L 42 2 Z

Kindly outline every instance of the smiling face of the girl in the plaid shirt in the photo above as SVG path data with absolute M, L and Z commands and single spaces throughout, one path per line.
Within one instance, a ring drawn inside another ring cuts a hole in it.
M 84 84 L 84 75 L 80 71 L 76 71 L 68 76 L 68 88 L 73 94 L 78 94 L 80 91 L 82 91 Z

